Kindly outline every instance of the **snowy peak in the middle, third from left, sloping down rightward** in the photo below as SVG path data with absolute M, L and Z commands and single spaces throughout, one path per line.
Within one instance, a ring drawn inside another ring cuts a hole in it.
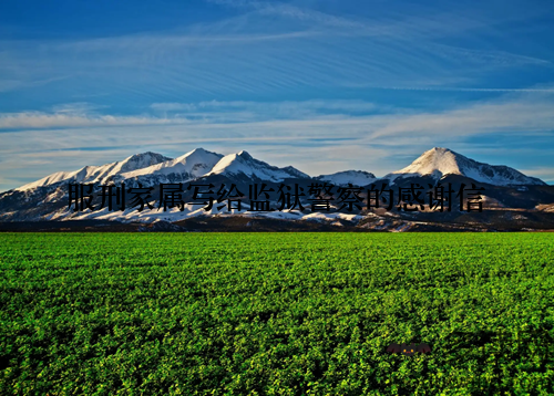
M 211 175 L 245 175 L 250 178 L 258 178 L 275 183 L 283 181 L 287 178 L 309 178 L 308 175 L 291 166 L 278 168 L 254 158 L 244 150 L 223 157 L 206 176 Z

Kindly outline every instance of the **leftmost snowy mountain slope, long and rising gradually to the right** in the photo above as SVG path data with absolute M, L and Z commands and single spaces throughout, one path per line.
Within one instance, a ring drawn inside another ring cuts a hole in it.
M 171 158 L 168 157 L 152 152 L 135 154 L 121 161 L 115 161 L 101 166 L 85 166 L 84 168 L 74 171 L 59 171 L 49 175 L 40 180 L 16 188 L 16 190 L 27 191 L 27 190 L 32 190 L 37 187 L 51 186 L 60 181 L 70 181 L 70 180 L 72 183 L 103 183 L 104 180 L 111 177 L 133 171 L 136 169 L 145 168 L 154 164 L 164 163 L 170 159 Z

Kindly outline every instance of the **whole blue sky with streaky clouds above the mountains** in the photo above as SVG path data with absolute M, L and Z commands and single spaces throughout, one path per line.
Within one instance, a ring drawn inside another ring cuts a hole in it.
M 4 1 L 0 191 L 153 150 L 554 183 L 552 1 Z

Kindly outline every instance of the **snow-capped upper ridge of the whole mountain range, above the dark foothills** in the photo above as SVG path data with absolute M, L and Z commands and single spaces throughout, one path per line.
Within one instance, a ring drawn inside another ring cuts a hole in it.
M 145 180 L 145 185 L 152 186 L 154 183 L 188 181 L 211 175 L 237 176 L 240 174 L 269 181 L 283 181 L 287 178 L 311 178 L 340 186 L 348 184 L 367 186 L 378 180 L 389 180 L 394 184 L 398 179 L 421 176 L 430 176 L 438 181 L 447 175 L 465 176 L 475 181 L 495 186 L 546 186 L 543 180 L 526 176 L 514 168 L 480 163 L 444 147 L 433 147 L 420 155 L 409 166 L 383 177 L 376 177 L 375 174 L 367 170 L 340 170 L 312 177 L 293 166 L 279 168 L 269 165 L 254 158 L 246 150 L 224 156 L 199 147 L 177 158 L 170 158 L 152 152 L 140 153 L 121 161 L 100 166 L 89 165 L 73 171 L 54 173 L 13 190 L 25 191 L 69 180 L 73 183 L 102 183 L 106 180 L 137 180 L 151 176 L 151 180 Z M 158 177 L 153 177 L 154 175 Z M 174 177 L 167 177 L 168 175 L 174 175 Z

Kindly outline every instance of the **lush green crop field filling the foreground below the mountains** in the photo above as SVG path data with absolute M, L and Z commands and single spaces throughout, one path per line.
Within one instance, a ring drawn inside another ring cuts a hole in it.
M 0 274 L 1 395 L 554 394 L 553 233 L 3 233 Z

